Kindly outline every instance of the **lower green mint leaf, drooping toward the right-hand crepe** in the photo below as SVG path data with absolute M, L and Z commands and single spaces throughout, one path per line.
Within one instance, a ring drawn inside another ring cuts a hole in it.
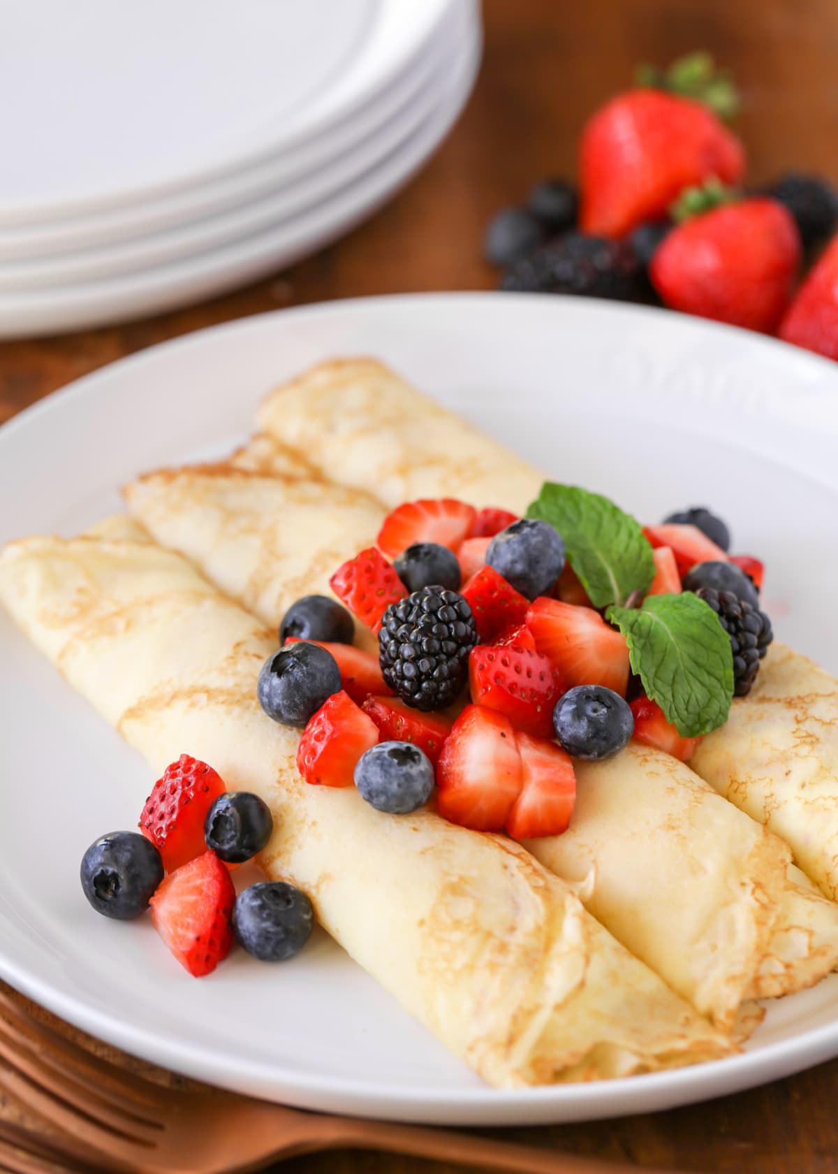
M 629 646 L 633 672 L 682 737 L 724 724 L 734 699 L 734 654 L 718 616 L 691 592 L 649 595 L 640 610 L 608 609 Z

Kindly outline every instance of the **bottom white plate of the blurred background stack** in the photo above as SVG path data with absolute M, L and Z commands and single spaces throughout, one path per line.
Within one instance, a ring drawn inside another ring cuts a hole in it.
M 439 81 L 437 100 L 414 131 L 354 182 L 299 216 L 154 269 L 0 294 L 0 338 L 101 326 L 161 312 L 254 281 L 326 244 L 371 215 L 439 146 L 471 93 L 479 62 L 480 40 L 472 38 Z

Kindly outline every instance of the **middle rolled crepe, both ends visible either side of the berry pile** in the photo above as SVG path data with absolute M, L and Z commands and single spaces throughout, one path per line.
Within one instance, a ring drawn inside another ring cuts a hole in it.
M 161 545 L 275 627 L 300 594 L 295 565 L 316 567 L 317 589 L 327 592 L 330 569 L 380 525 L 370 499 L 352 499 L 337 525 L 342 492 L 357 491 L 217 465 L 151 473 L 126 497 Z M 318 525 L 318 508 L 337 513 Z M 323 567 L 318 532 L 331 545 L 336 528 L 344 546 Z M 683 763 L 633 745 L 576 772 L 570 830 L 529 850 L 572 882 L 590 872 L 594 916 L 702 1014 L 731 1030 L 746 999 L 800 990 L 833 969 L 838 905 L 789 876 L 786 845 Z

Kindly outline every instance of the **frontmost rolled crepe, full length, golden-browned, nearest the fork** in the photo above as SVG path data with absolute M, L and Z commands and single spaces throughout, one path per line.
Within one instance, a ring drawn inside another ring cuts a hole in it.
M 187 751 L 262 795 L 269 876 L 303 888 L 327 932 L 452 1052 L 515 1086 L 732 1050 L 519 845 L 304 783 L 298 734 L 256 700 L 275 635 L 182 555 L 120 532 L 11 544 L 0 600 L 155 771 Z

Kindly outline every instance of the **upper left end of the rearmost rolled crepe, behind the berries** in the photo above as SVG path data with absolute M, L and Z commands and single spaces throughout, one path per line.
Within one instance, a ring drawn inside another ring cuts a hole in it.
M 523 513 L 543 477 L 376 359 L 322 363 L 272 391 L 259 427 L 386 506 L 461 498 Z

